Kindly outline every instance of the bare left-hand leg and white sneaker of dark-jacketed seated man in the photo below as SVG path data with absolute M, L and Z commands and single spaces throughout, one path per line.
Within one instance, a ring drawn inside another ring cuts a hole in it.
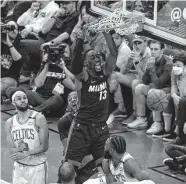
M 147 118 L 146 118 L 146 97 L 148 91 L 150 90 L 149 85 L 139 84 L 135 88 L 135 101 L 136 101 L 136 114 L 137 119 L 132 123 L 129 123 L 128 128 L 146 128 Z

